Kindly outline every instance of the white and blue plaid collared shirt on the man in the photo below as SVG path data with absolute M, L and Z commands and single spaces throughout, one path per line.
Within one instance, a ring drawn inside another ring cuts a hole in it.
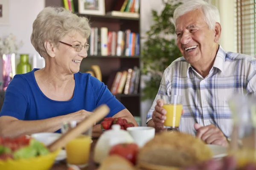
M 256 59 L 244 54 L 225 52 L 219 46 L 209 75 L 203 78 L 184 57 L 172 62 L 164 71 L 157 96 L 147 115 L 152 112 L 160 94 L 182 95 L 184 114 L 179 130 L 195 135 L 194 124 L 213 124 L 225 136 L 232 132 L 228 100 L 234 94 L 256 95 Z

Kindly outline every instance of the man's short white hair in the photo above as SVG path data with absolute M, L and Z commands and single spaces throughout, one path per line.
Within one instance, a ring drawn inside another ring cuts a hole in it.
M 210 30 L 215 28 L 215 23 L 220 23 L 220 14 L 218 8 L 205 2 L 204 0 L 190 0 L 177 7 L 173 14 L 174 24 L 178 17 L 196 9 L 201 9 L 204 13 L 204 20 L 207 23 Z M 175 24 L 176 26 L 176 24 Z

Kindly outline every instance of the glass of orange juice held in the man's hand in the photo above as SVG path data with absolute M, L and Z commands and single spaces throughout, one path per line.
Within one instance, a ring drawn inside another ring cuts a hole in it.
M 178 130 L 182 113 L 182 96 L 160 95 L 163 100 L 163 108 L 166 110 L 166 120 L 163 125 L 167 130 Z

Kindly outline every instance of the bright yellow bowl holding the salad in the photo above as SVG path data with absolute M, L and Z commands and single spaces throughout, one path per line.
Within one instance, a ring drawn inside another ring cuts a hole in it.
M 0 170 L 50 170 L 60 150 L 29 159 L 0 160 Z

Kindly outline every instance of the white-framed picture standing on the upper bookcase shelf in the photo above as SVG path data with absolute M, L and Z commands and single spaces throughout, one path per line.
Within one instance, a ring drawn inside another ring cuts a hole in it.
M 105 15 L 105 0 L 78 0 L 80 14 Z

